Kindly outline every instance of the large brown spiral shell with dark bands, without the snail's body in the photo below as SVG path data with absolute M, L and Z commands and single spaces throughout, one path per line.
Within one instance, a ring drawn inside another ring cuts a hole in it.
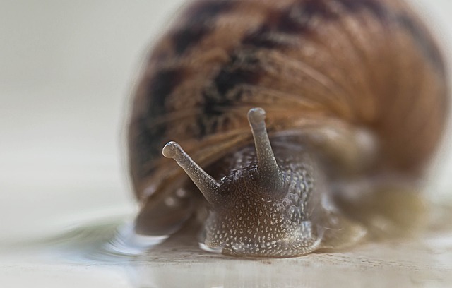
M 353 179 L 414 182 L 444 128 L 446 68 L 404 1 L 189 1 L 153 47 L 133 100 L 137 232 L 170 234 L 203 202 L 161 156 L 163 145 L 176 140 L 214 178 L 227 175 L 218 168 L 224 157 L 252 143 L 252 107 L 266 110 L 272 142 L 299 131 L 300 145 L 314 146 L 328 170 L 325 185 L 339 182 L 343 169 Z M 354 137 L 335 150 L 326 143 L 335 141 L 331 133 L 319 133 L 355 130 L 371 134 L 376 147 L 365 164 L 359 153 L 341 158 L 361 145 Z

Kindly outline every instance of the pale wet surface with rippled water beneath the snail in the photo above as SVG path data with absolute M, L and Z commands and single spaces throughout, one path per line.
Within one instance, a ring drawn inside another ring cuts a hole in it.
M 9 277 L 24 277 L 35 269 L 40 277 L 57 276 L 52 279 L 61 282 L 89 279 L 96 287 L 450 287 L 452 227 L 448 221 L 452 211 L 444 208 L 440 214 L 415 239 L 284 259 L 208 253 L 198 247 L 191 229 L 140 256 L 131 256 L 129 252 L 140 248 L 133 246 L 139 241 L 131 241 L 134 238 L 126 234 L 130 231 L 127 226 L 118 234 L 117 227 L 124 226 L 121 220 L 112 220 L 72 229 L 26 250 L 21 247 L 22 255 L 13 262 L 11 253 L 0 262 L 10 266 L 6 268 Z M 123 241 L 115 235 L 121 235 Z M 131 243 L 131 250 L 124 250 Z M 21 263 L 21 270 L 11 263 Z M 61 282 L 47 287 L 58 287 Z

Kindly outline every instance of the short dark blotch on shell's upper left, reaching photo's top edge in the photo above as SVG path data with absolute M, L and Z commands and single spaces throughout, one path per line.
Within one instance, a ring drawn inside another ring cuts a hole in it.
M 181 55 L 214 30 L 214 21 L 234 7 L 232 1 L 201 1 L 186 11 L 186 21 L 172 35 L 174 51 Z

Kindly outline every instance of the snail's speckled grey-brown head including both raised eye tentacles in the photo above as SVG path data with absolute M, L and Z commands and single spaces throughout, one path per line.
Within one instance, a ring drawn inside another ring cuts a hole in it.
M 248 112 L 254 136 L 254 161 L 213 179 L 179 144 L 163 155 L 176 160 L 210 204 L 205 224 L 208 249 L 236 256 L 287 257 L 319 248 L 321 230 L 311 217 L 314 177 L 302 157 L 287 149 L 275 159 L 261 108 Z M 240 155 L 240 154 L 239 154 Z M 248 155 L 249 156 L 249 155 Z

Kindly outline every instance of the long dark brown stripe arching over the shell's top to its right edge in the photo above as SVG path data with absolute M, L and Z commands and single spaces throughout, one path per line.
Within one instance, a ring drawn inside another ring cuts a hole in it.
M 199 137 L 206 136 L 215 131 L 218 119 L 222 114 L 226 114 L 232 109 L 234 102 L 239 100 L 240 93 L 237 90 L 239 85 L 253 85 L 259 82 L 259 78 L 264 73 L 258 68 L 258 59 L 252 54 L 258 49 L 285 49 L 293 43 L 290 37 L 275 37 L 275 35 L 306 35 L 315 33 L 311 27 L 313 18 L 323 21 L 334 21 L 341 17 L 338 11 L 333 11 L 331 3 L 339 4 L 347 13 L 369 12 L 379 19 L 382 25 L 398 25 L 412 35 L 415 43 L 432 62 L 436 68 L 444 74 L 444 62 L 438 48 L 429 39 L 427 31 L 417 27 L 414 19 L 399 11 L 392 11 L 377 0 L 305 0 L 298 1 L 289 8 L 282 11 L 270 11 L 267 19 L 261 27 L 257 28 L 242 39 L 242 44 L 234 49 L 230 55 L 231 61 L 220 69 L 213 78 L 213 89 L 204 92 L 203 115 L 198 117 L 200 127 Z M 238 51 L 245 51 L 248 54 L 246 59 L 237 57 Z M 255 63 L 252 63 L 254 61 Z M 253 68 L 251 68 L 253 67 Z M 230 94 L 234 91 L 234 94 Z

